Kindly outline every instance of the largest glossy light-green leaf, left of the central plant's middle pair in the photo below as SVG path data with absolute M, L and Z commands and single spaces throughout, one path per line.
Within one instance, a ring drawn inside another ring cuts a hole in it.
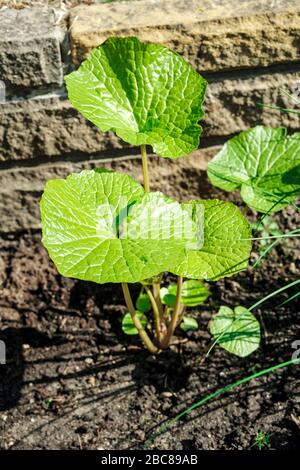
M 125 174 L 82 171 L 48 181 L 41 214 L 43 243 L 59 272 L 100 284 L 171 270 L 193 237 L 178 202 L 145 193 Z

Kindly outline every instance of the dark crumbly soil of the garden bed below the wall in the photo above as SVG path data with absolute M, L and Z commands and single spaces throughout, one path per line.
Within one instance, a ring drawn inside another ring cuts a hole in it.
M 276 220 L 284 231 L 299 223 L 291 208 Z M 278 244 L 260 268 L 211 285 L 213 295 L 193 310 L 199 331 L 178 333 L 158 357 L 122 333 L 120 286 L 61 277 L 39 232 L 6 235 L 1 254 L 2 449 L 138 448 L 164 420 L 211 391 L 289 360 L 293 341 L 300 340 L 299 303 L 276 307 L 297 291 L 291 289 L 255 310 L 263 341 L 254 354 L 240 359 L 216 347 L 203 361 L 208 323 L 220 305 L 250 306 L 298 277 L 296 238 Z M 294 365 L 251 381 L 173 424 L 151 446 L 252 449 L 261 430 L 271 448 L 295 449 L 299 372 Z

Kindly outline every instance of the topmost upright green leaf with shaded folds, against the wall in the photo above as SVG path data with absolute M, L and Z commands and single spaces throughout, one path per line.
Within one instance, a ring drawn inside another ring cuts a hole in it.
M 111 37 L 65 80 L 73 106 L 103 132 L 168 158 L 199 145 L 207 83 L 164 46 Z

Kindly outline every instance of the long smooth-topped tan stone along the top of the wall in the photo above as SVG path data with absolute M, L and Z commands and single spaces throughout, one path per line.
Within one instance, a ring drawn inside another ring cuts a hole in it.
M 202 72 L 300 59 L 298 0 L 142 0 L 79 6 L 71 10 L 70 27 L 76 63 L 111 35 L 165 44 Z

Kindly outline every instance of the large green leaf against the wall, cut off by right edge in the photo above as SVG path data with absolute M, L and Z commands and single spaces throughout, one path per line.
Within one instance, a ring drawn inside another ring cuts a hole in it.
M 300 193 L 300 133 L 257 126 L 230 139 L 208 165 L 211 182 L 240 189 L 259 212 L 276 212 Z

